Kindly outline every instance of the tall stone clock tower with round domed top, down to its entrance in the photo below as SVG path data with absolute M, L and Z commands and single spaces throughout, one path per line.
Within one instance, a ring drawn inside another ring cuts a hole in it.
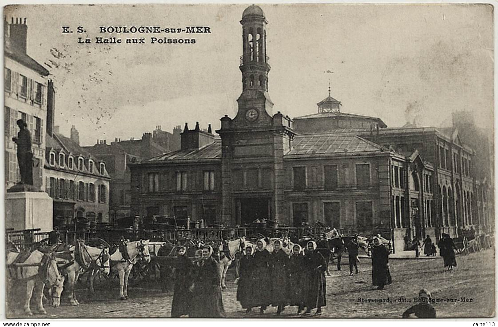
M 256 219 L 285 222 L 283 156 L 291 149 L 293 121 L 273 114 L 268 96 L 266 18 L 257 5 L 242 14 L 242 93 L 235 118 L 225 115 L 222 140 L 222 223 Z

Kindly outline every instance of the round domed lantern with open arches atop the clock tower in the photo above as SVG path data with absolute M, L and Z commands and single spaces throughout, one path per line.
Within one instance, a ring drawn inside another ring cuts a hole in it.
M 250 5 L 242 14 L 242 90 L 268 91 L 270 66 L 266 56 L 266 19 L 263 10 Z

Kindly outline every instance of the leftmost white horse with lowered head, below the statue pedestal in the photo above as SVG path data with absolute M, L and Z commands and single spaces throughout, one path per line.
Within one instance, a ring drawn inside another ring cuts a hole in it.
M 38 250 L 30 253 L 23 263 L 14 263 L 19 253 L 7 254 L 7 268 L 10 280 L 13 283 L 26 282 L 24 299 L 24 313 L 31 316 L 29 302 L 32 297 L 36 299 L 36 310 L 42 315 L 47 312 L 43 308 L 43 288 L 48 285 L 52 296 L 52 305 L 60 305 L 60 296 L 64 285 L 64 277 L 59 273 L 57 261 L 53 253 L 44 254 Z

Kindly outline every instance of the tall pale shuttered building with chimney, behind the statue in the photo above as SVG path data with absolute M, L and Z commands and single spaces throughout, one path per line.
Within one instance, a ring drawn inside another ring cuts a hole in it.
M 4 167 L 5 189 L 20 181 L 16 148 L 12 141 L 19 131 L 16 121 L 22 119 L 31 134 L 33 183 L 44 187 L 45 126 L 47 107 L 51 105 L 52 82 L 49 71 L 27 54 L 26 19 L 12 18 L 4 24 Z

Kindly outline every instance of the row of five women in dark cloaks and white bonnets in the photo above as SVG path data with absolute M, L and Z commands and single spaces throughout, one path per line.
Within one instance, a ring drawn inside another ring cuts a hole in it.
M 247 313 L 259 307 L 259 313 L 263 314 L 267 307 L 273 306 L 280 315 L 286 306 L 297 306 L 298 315 L 309 315 L 314 309 L 315 315 L 321 315 L 322 307 L 327 304 L 327 262 L 316 243 L 309 241 L 304 251 L 295 244 L 290 256 L 282 250 L 280 240 L 272 245 L 271 254 L 263 239 L 256 242 L 254 253 L 252 246 L 246 247 L 239 269 L 237 300 Z

